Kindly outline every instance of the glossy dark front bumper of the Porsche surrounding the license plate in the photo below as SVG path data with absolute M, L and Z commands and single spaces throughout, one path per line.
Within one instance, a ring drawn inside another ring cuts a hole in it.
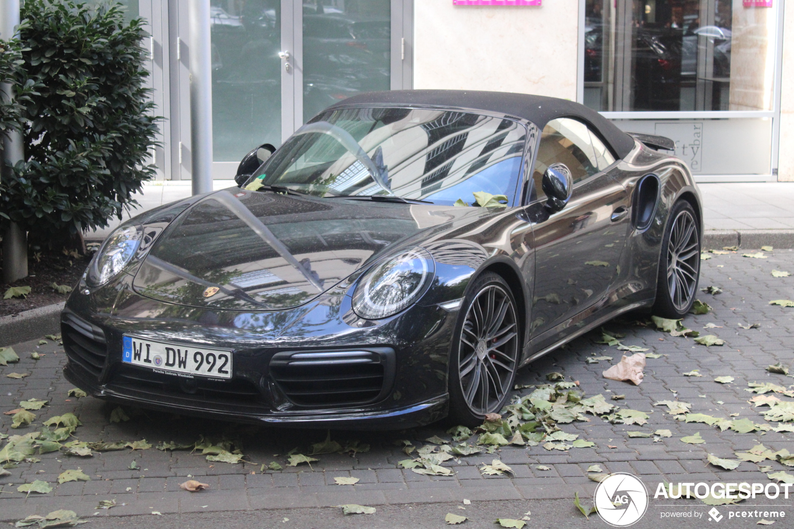
M 446 416 L 447 358 L 457 314 L 437 306 L 414 305 L 373 324 L 349 317 L 347 296 L 267 313 L 181 307 L 130 289 L 121 289 L 112 309 L 98 307 L 98 298 L 75 293 L 61 324 L 68 358 L 64 375 L 94 397 L 187 416 L 291 427 L 403 429 Z M 184 379 L 125 364 L 124 334 L 232 349 L 233 378 L 186 385 Z M 391 351 L 382 354 L 383 387 L 368 400 L 299 401 L 284 377 L 276 376 L 276 366 L 290 351 L 351 349 L 373 351 L 373 356 Z

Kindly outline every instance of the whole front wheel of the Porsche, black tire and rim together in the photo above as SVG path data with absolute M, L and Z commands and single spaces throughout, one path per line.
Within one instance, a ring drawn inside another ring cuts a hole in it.
M 519 325 L 515 298 L 502 276 L 486 272 L 476 278 L 453 334 L 450 421 L 476 426 L 507 403 L 521 351 Z

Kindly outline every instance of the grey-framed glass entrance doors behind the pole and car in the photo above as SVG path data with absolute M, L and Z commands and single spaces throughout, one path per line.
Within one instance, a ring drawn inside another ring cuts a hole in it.
M 135 2 L 135 0 L 128 0 Z M 152 28 L 167 39 L 160 115 L 166 177 L 191 178 L 188 0 L 152 2 Z M 231 179 L 242 157 L 278 147 L 335 102 L 372 90 L 410 88 L 413 0 L 209 0 L 213 178 Z M 160 6 L 160 13 L 156 6 Z M 154 68 L 157 72 L 157 67 Z M 155 90 L 155 97 L 158 90 Z

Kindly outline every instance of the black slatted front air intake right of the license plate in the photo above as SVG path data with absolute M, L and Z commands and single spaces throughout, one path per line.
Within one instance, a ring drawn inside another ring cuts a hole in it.
M 312 408 L 380 401 L 394 374 L 395 351 L 390 347 L 285 351 L 270 361 L 270 376 L 284 396 Z

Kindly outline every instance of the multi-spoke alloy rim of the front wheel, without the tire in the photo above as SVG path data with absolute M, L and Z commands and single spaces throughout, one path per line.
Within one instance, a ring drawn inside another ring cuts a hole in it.
M 517 361 L 514 303 L 501 286 L 485 286 L 468 306 L 461 331 L 459 380 L 472 412 L 485 415 L 499 411 L 511 390 Z

